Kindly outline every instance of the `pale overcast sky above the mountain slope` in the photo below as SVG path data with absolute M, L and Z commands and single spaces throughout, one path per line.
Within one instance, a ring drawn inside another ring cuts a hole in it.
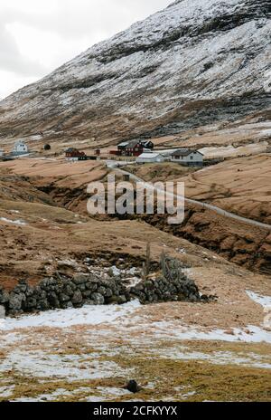
M 0 0 L 0 99 L 173 0 Z

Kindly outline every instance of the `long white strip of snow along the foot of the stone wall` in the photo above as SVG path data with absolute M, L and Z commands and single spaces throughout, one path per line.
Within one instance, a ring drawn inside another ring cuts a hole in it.
M 131 301 L 124 305 L 109 306 L 85 306 L 81 309 L 51 310 L 42 312 L 39 315 L 28 315 L 18 319 L 6 319 L 0 326 L 3 331 L 12 331 L 14 329 L 28 329 L 35 327 L 51 328 L 70 328 L 77 325 L 107 325 L 122 330 L 125 334 L 128 328 L 129 332 L 141 333 L 142 331 L 150 333 L 155 339 L 180 339 L 180 340 L 219 340 L 228 342 L 247 342 L 271 343 L 271 331 L 262 329 L 253 325 L 248 325 L 246 329 L 234 328 L 229 331 L 225 329 L 201 329 L 180 325 L 174 321 L 151 322 L 141 313 L 143 307 L 139 301 Z M 157 305 L 157 310 L 159 305 Z M 11 333 L 12 340 L 14 334 Z M 104 334 L 104 331 L 99 333 Z M 5 339 L 8 342 L 8 336 Z M 5 344 L 5 343 L 4 343 Z

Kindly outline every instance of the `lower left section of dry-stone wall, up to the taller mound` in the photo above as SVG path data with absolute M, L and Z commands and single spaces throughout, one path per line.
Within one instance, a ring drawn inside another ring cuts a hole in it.
M 35 287 L 20 281 L 10 292 L 0 288 L 0 305 L 10 316 L 40 310 L 80 308 L 85 304 L 121 304 L 129 299 L 126 287 L 117 278 L 104 280 L 89 274 L 78 274 L 72 279 L 45 278 Z

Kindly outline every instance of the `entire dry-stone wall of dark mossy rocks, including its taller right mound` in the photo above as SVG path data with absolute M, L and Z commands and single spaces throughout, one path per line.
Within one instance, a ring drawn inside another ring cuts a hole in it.
M 215 296 L 201 295 L 195 282 L 184 272 L 181 262 L 166 257 L 161 259 L 161 274 L 151 274 L 133 287 L 128 287 L 121 276 L 103 278 L 95 273 L 77 274 L 72 278 L 45 278 L 31 287 L 18 282 L 13 291 L 0 286 L 0 306 L 9 316 L 23 312 L 37 312 L 80 308 L 83 305 L 123 304 L 138 299 L 142 304 L 163 301 L 208 302 Z

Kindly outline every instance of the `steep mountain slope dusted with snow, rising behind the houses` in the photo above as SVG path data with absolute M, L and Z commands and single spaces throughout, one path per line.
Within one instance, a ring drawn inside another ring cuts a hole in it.
M 176 1 L 2 100 L 0 138 L 115 141 L 265 119 L 270 9 L 270 0 Z

